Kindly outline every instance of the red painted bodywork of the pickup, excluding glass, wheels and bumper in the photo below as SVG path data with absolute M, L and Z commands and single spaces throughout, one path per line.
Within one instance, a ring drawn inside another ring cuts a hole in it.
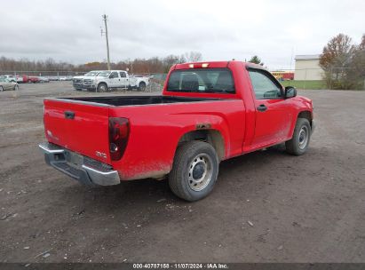
M 234 77 L 234 94 L 171 92 L 167 82 L 174 69 L 192 68 L 191 64 L 171 67 L 163 87 L 164 96 L 218 98 L 194 102 L 178 102 L 131 106 L 98 106 L 44 100 L 44 126 L 48 141 L 81 155 L 108 163 L 121 179 L 159 177 L 171 171 L 175 151 L 186 132 L 196 124 L 210 123 L 224 140 L 224 159 L 281 143 L 291 138 L 298 114 L 313 112 L 312 101 L 292 99 L 255 99 L 246 66 L 239 61 L 207 62 L 208 67 L 227 67 Z M 194 63 L 202 67 L 202 63 Z M 257 107 L 265 104 L 266 112 Z M 75 111 L 75 119 L 65 119 L 67 110 Z M 108 118 L 129 120 L 130 134 L 123 157 L 111 161 L 108 152 Z M 51 135 L 47 133 L 51 131 Z M 99 151 L 107 158 L 95 155 Z

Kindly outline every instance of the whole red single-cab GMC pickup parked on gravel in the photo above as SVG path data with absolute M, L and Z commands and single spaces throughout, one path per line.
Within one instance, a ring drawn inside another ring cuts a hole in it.
M 307 150 L 313 104 L 261 66 L 178 64 L 159 96 L 44 99 L 46 163 L 89 185 L 169 176 L 186 201 L 208 195 L 228 158 L 285 142 Z

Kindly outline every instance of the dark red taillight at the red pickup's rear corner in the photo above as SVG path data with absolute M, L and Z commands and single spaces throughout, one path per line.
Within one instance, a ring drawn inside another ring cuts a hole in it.
M 109 153 L 112 160 L 120 160 L 127 147 L 130 123 L 127 118 L 109 118 Z

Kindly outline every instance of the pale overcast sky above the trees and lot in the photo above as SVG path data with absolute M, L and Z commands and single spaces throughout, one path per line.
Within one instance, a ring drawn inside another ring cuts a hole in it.
M 363 0 L 4 0 L 1 11 L 0 55 L 74 64 L 106 59 L 103 13 L 115 62 L 197 51 L 203 60 L 257 54 L 271 69 L 289 68 L 292 52 L 321 53 L 338 33 L 355 43 L 365 33 Z

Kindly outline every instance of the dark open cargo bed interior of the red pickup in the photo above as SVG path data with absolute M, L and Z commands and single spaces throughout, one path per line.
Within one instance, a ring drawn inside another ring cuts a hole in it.
M 199 102 L 207 100 L 222 100 L 222 99 L 207 99 L 207 98 L 180 98 L 168 96 L 115 96 L 115 97 L 83 97 L 83 98 L 62 98 L 77 103 L 91 102 L 99 103 L 100 105 L 108 106 L 132 106 L 132 105 L 148 105 L 148 104 L 167 104 L 167 103 L 181 103 L 181 102 Z M 56 99 L 57 100 L 57 99 Z

